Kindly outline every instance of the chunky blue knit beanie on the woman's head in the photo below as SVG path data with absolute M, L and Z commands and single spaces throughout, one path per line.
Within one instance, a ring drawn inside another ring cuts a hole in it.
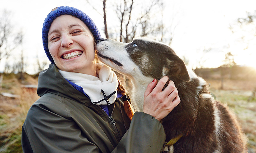
M 55 18 L 57 18 L 61 15 L 65 15 L 65 14 L 72 15 L 76 18 L 79 18 L 91 30 L 92 35 L 95 38 L 95 40 L 100 40 L 100 32 L 99 32 L 97 26 L 94 24 L 94 22 L 88 15 L 86 15 L 84 12 L 82 12 L 76 8 L 73 8 L 73 7 L 68 7 L 68 6 L 56 7 L 54 9 L 52 9 L 52 11 L 45 18 L 44 24 L 43 24 L 43 29 L 42 29 L 44 51 L 45 51 L 48 59 L 52 63 L 54 63 L 54 61 L 53 61 L 52 56 L 48 49 L 48 32 L 49 32 L 50 26 L 52 24 L 52 21 Z

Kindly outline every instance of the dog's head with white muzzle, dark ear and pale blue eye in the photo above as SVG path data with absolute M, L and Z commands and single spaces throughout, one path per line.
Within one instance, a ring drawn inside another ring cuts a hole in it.
M 166 75 L 170 80 L 190 80 L 184 62 L 170 47 L 154 40 L 139 38 L 122 43 L 105 39 L 97 44 L 97 50 L 101 62 L 133 78 L 159 80 Z

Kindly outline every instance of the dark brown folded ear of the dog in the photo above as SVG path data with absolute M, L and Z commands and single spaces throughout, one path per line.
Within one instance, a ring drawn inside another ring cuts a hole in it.
M 166 59 L 163 74 L 169 78 L 175 77 L 183 81 L 190 80 L 185 63 L 177 55 L 169 56 L 169 58 Z

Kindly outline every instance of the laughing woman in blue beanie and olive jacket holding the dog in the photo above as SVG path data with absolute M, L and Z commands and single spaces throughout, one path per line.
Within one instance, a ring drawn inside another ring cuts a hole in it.
M 144 94 L 144 111 L 130 120 L 123 86 L 96 60 L 96 40 L 100 33 L 84 12 L 58 7 L 48 14 L 43 45 L 52 64 L 39 75 L 41 98 L 22 126 L 24 153 L 160 152 L 160 120 L 179 104 L 177 89 L 170 81 L 162 91 L 168 77 L 154 79 Z

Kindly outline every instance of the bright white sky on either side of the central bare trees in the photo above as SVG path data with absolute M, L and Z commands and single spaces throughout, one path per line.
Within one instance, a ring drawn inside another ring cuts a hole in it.
M 138 0 L 134 0 L 136 1 Z M 223 64 L 225 53 L 229 51 L 234 55 L 237 64 L 256 68 L 255 35 L 251 31 L 244 32 L 236 26 L 237 18 L 246 17 L 246 12 L 256 10 L 255 0 L 163 1 L 165 2 L 164 21 L 170 21 L 168 17 L 173 12 L 177 15 L 175 19 L 178 24 L 170 47 L 180 57 L 185 56 L 191 68 L 195 68 L 199 62 L 203 63 L 204 67 L 219 67 Z M 36 64 L 36 56 L 41 62 L 48 61 L 42 45 L 42 25 L 47 14 L 56 6 L 71 6 L 84 11 L 92 18 L 104 37 L 103 18 L 85 0 L 0 0 L 0 4 L 1 13 L 4 9 L 12 11 L 11 22 L 14 31 L 21 30 L 24 34 L 22 48 L 28 64 L 26 72 L 29 74 L 35 72 L 33 65 Z M 102 11 L 102 5 L 95 4 L 94 7 Z M 107 11 L 111 14 L 115 10 Z M 112 23 L 115 19 L 113 14 L 111 18 L 107 18 L 107 21 Z M 234 25 L 234 33 L 229 29 L 230 25 Z M 252 29 L 256 28 L 252 27 Z M 241 39 L 242 35 L 245 35 L 244 41 Z M 203 52 L 209 48 L 211 49 L 209 52 Z M 17 60 L 19 55 L 20 50 L 15 50 L 12 55 L 13 61 Z M 3 71 L 4 64 L 5 60 L 1 60 L 0 72 Z

